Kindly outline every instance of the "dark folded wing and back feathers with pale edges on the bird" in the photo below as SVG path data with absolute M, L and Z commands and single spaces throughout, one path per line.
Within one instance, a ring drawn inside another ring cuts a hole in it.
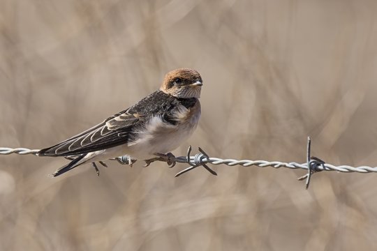
M 194 99 L 178 99 L 162 91 L 155 91 L 151 95 L 137 102 L 130 107 L 102 123 L 81 132 L 64 142 L 42 149 L 38 152 L 40 156 L 66 156 L 80 155 L 108 149 L 110 147 L 125 144 L 133 137 L 133 128 L 142 127 L 151 116 L 161 116 L 170 123 L 166 114 L 171 114 L 172 109 L 178 104 L 185 107 L 195 105 Z

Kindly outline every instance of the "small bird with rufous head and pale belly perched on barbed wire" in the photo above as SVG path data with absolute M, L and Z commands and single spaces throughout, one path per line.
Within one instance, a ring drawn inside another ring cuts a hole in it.
M 195 130 L 200 118 L 202 77 L 196 70 L 177 69 L 165 75 L 161 88 L 128 109 L 64 142 L 38 151 L 38 156 L 70 157 L 72 161 L 52 176 L 92 162 L 128 155 L 128 164 L 136 160 L 150 162 L 164 158 Z

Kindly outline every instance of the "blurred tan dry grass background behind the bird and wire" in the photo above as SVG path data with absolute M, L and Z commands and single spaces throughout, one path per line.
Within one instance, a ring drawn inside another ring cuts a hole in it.
M 40 149 L 205 82 L 188 144 L 219 158 L 377 165 L 377 2 L 0 0 L 0 146 Z M 0 156 L 1 250 L 376 250 L 376 174 L 216 166 L 179 178 Z

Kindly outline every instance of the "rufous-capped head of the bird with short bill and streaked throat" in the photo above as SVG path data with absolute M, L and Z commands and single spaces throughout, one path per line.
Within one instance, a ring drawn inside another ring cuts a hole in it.
M 202 85 L 196 70 L 182 68 L 166 74 L 160 90 L 177 98 L 200 98 Z

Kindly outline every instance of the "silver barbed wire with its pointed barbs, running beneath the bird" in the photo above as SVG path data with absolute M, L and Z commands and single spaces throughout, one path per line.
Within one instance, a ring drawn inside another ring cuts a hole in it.
M 217 175 L 214 170 L 209 168 L 207 164 L 212 165 L 228 165 L 228 166 L 235 166 L 235 165 L 241 165 L 243 167 L 250 167 L 250 166 L 256 166 L 256 167 L 274 167 L 274 168 L 281 168 L 286 167 L 290 169 L 306 169 L 308 172 L 304 176 L 298 178 L 298 180 L 304 180 L 306 179 L 306 189 L 309 188 L 309 183 L 311 180 L 312 174 L 316 172 L 322 172 L 322 171 L 337 171 L 337 172 L 359 172 L 359 173 L 370 173 L 370 172 L 377 172 L 377 167 L 368 167 L 368 166 L 360 166 L 360 167 L 351 167 L 349 165 L 331 165 L 329 163 L 324 162 L 323 160 L 320 160 L 320 158 L 316 158 L 311 156 L 311 139 L 308 137 L 308 143 L 307 143 L 307 151 L 306 151 L 306 162 L 304 163 L 297 163 L 297 162 L 281 162 L 281 161 L 267 161 L 267 160 L 233 160 L 233 159 L 221 159 L 221 158 L 212 158 L 209 157 L 205 151 L 198 148 L 200 153 L 197 153 L 196 155 L 191 155 L 191 146 L 188 147 L 187 155 L 186 156 L 179 156 L 175 157 L 174 155 L 159 155 L 158 158 L 154 158 L 151 160 L 146 161 L 145 167 L 150 165 L 151 162 L 154 161 L 163 161 L 168 162 L 168 165 L 170 167 L 174 167 L 175 163 L 186 163 L 190 165 L 190 167 L 187 167 L 186 169 L 182 170 L 181 172 L 178 172 L 175 174 L 175 177 L 181 176 L 182 174 L 189 172 L 197 167 L 204 167 L 207 169 L 208 172 L 210 172 L 213 175 Z M 0 155 L 8 155 L 12 153 L 20 154 L 20 155 L 27 155 L 27 154 L 33 154 L 38 155 L 39 149 L 26 149 L 26 148 L 8 148 L 8 147 L 0 147 Z M 74 156 L 66 156 L 68 160 L 72 160 Z M 133 160 L 128 158 L 128 156 L 124 155 L 118 158 L 112 158 L 110 160 L 117 160 L 121 165 L 132 165 Z M 100 162 L 102 165 L 106 166 L 103 162 Z M 94 167 L 96 169 L 97 174 L 99 174 L 98 168 L 96 168 L 96 164 L 94 163 Z

